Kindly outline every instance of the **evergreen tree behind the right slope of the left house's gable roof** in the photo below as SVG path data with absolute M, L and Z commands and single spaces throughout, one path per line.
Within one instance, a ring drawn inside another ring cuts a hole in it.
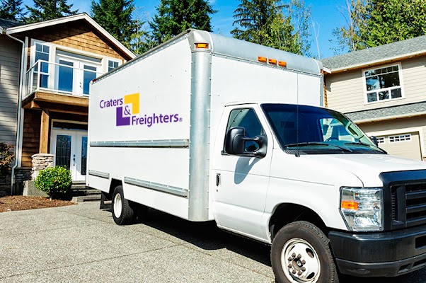
M 91 2 L 91 17 L 126 47 L 131 47 L 137 21 L 132 20 L 133 0 L 99 0 Z

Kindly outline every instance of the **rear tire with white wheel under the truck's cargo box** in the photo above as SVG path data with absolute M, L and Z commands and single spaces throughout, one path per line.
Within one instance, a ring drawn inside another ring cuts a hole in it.
M 137 219 L 131 203 L 125 199 L 121 185 L 115 187 L 113 192 L 113 219 L 117 225 L 134 224 Z

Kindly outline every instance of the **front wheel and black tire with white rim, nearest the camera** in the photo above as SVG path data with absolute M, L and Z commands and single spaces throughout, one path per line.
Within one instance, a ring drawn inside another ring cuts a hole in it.
M 296 221 L 282 227 L 272 242 L 271 264 L 278 283 L 338 283 L 329 240 L 318 227 Z

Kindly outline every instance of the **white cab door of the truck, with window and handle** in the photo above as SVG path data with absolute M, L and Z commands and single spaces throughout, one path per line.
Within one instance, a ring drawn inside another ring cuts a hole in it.
M 266 238 L 262 216 L 269 184 L 272 134 L 258 105 L 226 107 L 219 125 L 213 160 L 213 214 L 217 225 L 253 238 Z M 259 144 L 244 142 L 243 154 L 225 150 L 226 132 L 244 129 L 246 139 L 267 139 L 265 156 L 255 156 Z

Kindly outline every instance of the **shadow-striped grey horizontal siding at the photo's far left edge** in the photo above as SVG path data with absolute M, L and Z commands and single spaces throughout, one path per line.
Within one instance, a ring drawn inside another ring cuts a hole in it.
M 16 145 L 19 72 L 22 46 L 0 35 L 0 141 Z

